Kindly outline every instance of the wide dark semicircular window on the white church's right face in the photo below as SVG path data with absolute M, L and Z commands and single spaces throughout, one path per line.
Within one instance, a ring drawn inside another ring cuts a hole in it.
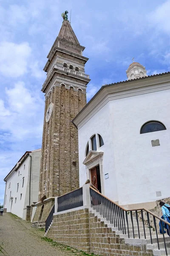
M 149 121 L 142 125 L 140 134 L 153 132 L 153 131 L 163 131 L 166 130 L 166 127 L 158 121 Z

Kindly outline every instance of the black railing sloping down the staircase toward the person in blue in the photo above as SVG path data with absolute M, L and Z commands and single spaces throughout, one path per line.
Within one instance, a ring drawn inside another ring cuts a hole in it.
M 118 230 L 122 231 L 122 234 L 127 235 L 128 238 L 149 239 L 150 244 L 156 242 L 159 250 L 161 243 L 161 247 L 164 246 L 165 253 L 168 255 L 167 242 L 170 242 L 170 237 L 164 236 L 163 226 L 164 224 L 170 226 L 170 223 L 146 209 L 126 210 L 91 187 L 90 195 L 91 207 L 95 209 L 96 212 L 99 212 L 103 218 L 113 224 L 112 227 L 117 227 Z M 144 216 L 146 216 L 146 218 L 144 218 Z M 158 236 L 159 221 L 162 237 Z M 159 240 L 159 238 L 161 238 L 161 240 Z

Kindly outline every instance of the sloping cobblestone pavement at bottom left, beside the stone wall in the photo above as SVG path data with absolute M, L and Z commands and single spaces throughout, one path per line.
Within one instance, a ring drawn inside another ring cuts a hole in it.
M 61 244 L 43 240 L 44 231 L 10 213 L 0 216 L 0 256 L 88 255 Z

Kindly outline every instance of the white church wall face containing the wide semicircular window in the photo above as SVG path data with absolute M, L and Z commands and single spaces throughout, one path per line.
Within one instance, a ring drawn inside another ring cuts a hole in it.
M 170 197 L 169 99 L 170 90 L 163 90 L 111 102 L 116 180 L 121 205 Z M 162 122 L 167 130 L 140 134 L 141 126 L 150 120 Z M 151 140 L 157 139 L 160 146 L 152 147 Z M 156 197 L 156 192 L 161 192 L 161 196 Z

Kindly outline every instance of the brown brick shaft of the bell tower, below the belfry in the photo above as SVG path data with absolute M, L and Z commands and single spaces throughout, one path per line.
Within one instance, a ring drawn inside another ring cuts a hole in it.
M 79 188 L 78 131 L 71 120 L 85 105 L 86 96 L 62 85 L 50 97 L 54 108 L 49 122 L 44 122 L 39 200 L 43 195 L 60 196 Z

